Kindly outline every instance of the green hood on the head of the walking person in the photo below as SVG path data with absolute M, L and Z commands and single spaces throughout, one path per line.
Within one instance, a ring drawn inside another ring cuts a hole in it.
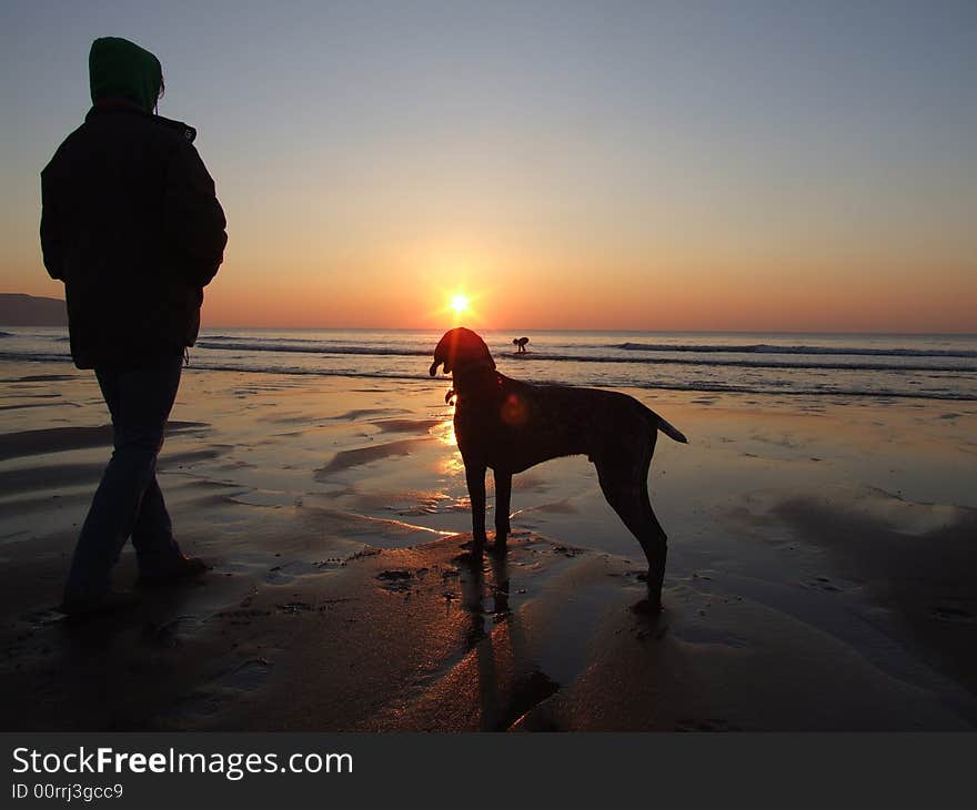
M 123 98 L 147 112 L 157 105 L 163 85 L 160 60 L 134 42 L 101 37 L 88 55 L 92 102 Z

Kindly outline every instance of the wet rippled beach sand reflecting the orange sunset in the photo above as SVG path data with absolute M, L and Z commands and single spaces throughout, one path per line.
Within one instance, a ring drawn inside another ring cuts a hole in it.
M 445 381 L 190 371 L 160 482 L 213 570 L 72 622 L 53 606 L 104 406 L 89 374 L 0 376 L 8 730 L 977 725 L 969 403 L 631 392 L 691 439 L 653 464 L 649 616 L 583 458 L 516 476 L 507 553 L 464 554 Z M 127 549 L 117 584 L 135 575 Z

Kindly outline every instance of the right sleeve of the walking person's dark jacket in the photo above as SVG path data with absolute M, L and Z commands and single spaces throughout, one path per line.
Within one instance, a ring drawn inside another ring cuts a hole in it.
M 164 231 L 184 281 L 203 287 L 216 275 L 228 243 L 224 211 L 192 144 L 177 149 L 167 174 Z

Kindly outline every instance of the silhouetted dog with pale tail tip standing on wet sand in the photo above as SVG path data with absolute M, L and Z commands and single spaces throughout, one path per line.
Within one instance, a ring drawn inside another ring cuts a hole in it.
M 465 465 L 477 551 L 485 535 L 485 474 L 495 478 L 495 544 L 505 548 L 512 476 L 560 456 L 585 455 L 597 468 L 607 503 L 637 538 L 648 560 L 648 596 L 661 607 L 667 543 L 648 498 L 648 469 L 658 431 L 685 436 L 632 396 L 598 388 L 530 385 L 495 371 L 488 346 L 471 330 L 453 328 L 434 350 L 452 375 L 454 433 Z M 449 397 L 445 397 L 446 399 Z

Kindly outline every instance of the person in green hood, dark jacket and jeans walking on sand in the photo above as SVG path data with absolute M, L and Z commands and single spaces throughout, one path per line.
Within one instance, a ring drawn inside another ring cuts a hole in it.
M 94 369 L 114 446 L 64 586 L 70 616 L 135 601 L 110 589 L 129 537 L 142 585 L 208 568 L 177 545 L 155 467 L 228 241 L 197 131 L 157 114 L 159 59 L 105 37 L 92 42 L 89 73 L 93 107 L 41 172 L 44 266 L 64 282 L 71 356 Z

